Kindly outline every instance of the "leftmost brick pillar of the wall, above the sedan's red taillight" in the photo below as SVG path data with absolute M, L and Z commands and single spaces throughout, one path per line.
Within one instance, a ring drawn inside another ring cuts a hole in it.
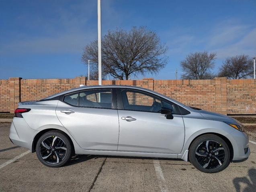
M 20 80 L 21 77 L 9 78 L 9 90 L 10 90 L 10 113 L 14 113 L 14 110 L 20 102 Z

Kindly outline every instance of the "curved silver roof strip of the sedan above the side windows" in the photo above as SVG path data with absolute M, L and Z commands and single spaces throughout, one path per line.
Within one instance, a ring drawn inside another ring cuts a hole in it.
M 57 94 L 54 94 L 54 95 L 51 95 L 47 98 L 44 98 L 43 100 L 46 100 L 46 99 L 51 99 L 51 98 L 54 98 L 54 97 L 57 97 L 57 96 L 60 96 L 60 95 L 63 95 L 63 94 L 68 94 L 68 93 L 71 93 L 71 92 L 76 92 L 76 91 L 80 91 L 80 90 L 87 90 L 87 89 L 97 89 L 97 88 L 129 88 L 129 89 L 135 89 L 135 90 L 142 90 L 142 91 L 146 91 L 146 92 L 150 92 L 152 94 L 156 94 L 160 97 L 163 97 L 167 100 L 170 100 L 176 104 L 179 104 L 180 106 L 184 106 L 183 103 L 180 103 L 174 99 L 171 99 L 163 94 L 160 94 L 158 92 L 155 92 L 155 91 L 152 91 L 150 89 L 146 89 L 146 88 L 142 88 L 142 87 L 137 87 L 137 86 L 128 86 L 128 85 L 95 85 L 95 86 L 80 86 L 78 88 L 73 88 L 73 89 L 70 89 L 70 90 L 66 90 L 66 91 L 63 91 L 63 92 L 59 92 Z

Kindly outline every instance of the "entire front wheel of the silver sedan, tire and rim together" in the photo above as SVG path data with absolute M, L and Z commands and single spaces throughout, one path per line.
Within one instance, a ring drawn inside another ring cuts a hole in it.
M 230 163 L 227 143 L 214 134 L 205 134 L 196 138 L 190 145 L 188 155 L 195 168 L 205 173 L 220 172 Z

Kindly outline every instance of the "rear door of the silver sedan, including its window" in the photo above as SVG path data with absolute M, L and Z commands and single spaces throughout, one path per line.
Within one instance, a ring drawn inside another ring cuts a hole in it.
M 85 150 L 117 151 L 119 122 L 115 90 L 84 90 L 60 98 L 56 114 Z

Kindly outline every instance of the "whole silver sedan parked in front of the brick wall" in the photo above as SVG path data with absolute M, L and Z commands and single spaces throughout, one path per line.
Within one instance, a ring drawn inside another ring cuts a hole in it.
M 237 120 L 133 86 L 82 86 L 20 102 L 9 137 L 49 167 L 92 154 L 180 158 L 215 173 L 250 155 Z

